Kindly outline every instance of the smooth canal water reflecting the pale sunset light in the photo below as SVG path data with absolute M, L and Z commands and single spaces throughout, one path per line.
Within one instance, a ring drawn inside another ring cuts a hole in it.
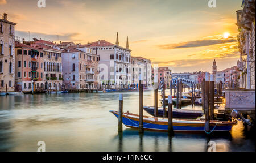
M 138 114 L 139 93 L 122 93 L 123 110 Z M 118 135 L 118 119 L 109 113 L 118 110 L 118 97 L 119 92 L 0 97 L 0 151 L 37 151 L 38 141 L 46 143 L 46 151 L 207 151 L 209 142 L 217 151 L 255 151 L 255 135 L 240 122 L 230 133 L 210 138 L 170 138 L 150 131 L 139 135 L 125 126 Z M 144 92 L 144 105 L 154 106 L 154 91 Z

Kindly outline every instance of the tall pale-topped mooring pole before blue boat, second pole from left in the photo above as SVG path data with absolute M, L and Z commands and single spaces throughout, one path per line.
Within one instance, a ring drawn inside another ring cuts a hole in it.
M 139 133 L 143 132 L 143 84 L 141 74 L 139 74 Z

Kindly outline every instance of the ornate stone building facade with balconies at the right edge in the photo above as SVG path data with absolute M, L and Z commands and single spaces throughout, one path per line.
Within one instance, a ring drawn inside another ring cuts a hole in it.
M 240 88 L 255 89 L 255 0 L 242 2 L 237 11 L 238 42 L 240 58 L 238 70 Z

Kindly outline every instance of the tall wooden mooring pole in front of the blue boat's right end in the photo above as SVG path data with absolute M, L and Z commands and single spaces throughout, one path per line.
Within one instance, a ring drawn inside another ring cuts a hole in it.
M 205 73 L 205 131 L 210 132 L 210 79 L 208 72 Z

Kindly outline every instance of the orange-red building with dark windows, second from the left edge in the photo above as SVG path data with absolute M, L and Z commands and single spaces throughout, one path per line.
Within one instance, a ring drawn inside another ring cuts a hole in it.
M 18 92 L 44 89 L 43 50 L 15 42 L 15 87 Z

